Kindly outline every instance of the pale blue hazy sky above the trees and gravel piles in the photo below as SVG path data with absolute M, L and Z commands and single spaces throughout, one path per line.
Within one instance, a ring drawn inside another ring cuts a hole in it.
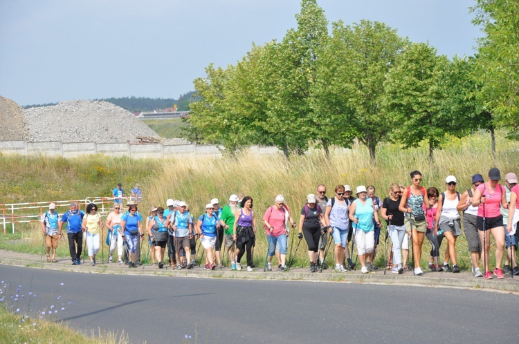
M 473 56 L 475 0 L 318 0 L 329 23 L 383 21 L 441 55 Z M 18 104 L 175 98 L 296 28 L 300 0 L 0 0 L 0 96 Z

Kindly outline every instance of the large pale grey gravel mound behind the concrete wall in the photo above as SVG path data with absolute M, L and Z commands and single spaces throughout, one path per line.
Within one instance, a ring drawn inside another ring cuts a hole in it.
M 28 141 L 137 142 L 158 134 L 135 115 L 108 102 L 73 100 L 24 110 Z M 22 140 L 22 139 L 19 139 Z

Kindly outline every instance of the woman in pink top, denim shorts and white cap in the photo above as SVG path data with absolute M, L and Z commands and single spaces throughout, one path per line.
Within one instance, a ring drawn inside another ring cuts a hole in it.
M 286 236 L 289 235 L 286 223 L 289 221 L 289 211 L 284 207 L 284 196 L 277 195 L 274 205 L 266 209 L 263 223 L 268 240 L 268 264 L 267 270 L 272 271 L 272 258 L 275 248 L 280 245 L 281 271 L 286 271 Z

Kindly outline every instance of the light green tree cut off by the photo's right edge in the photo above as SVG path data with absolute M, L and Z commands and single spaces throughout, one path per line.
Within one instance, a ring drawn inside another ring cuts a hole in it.
M 479 41 L 473 72 L 481 85 L 477 96 L 495 124 L 511 128 L 508 137 L 519 139 L 519 2 L 477 0 L 471 8 L 473 23 L 486 37 Z

